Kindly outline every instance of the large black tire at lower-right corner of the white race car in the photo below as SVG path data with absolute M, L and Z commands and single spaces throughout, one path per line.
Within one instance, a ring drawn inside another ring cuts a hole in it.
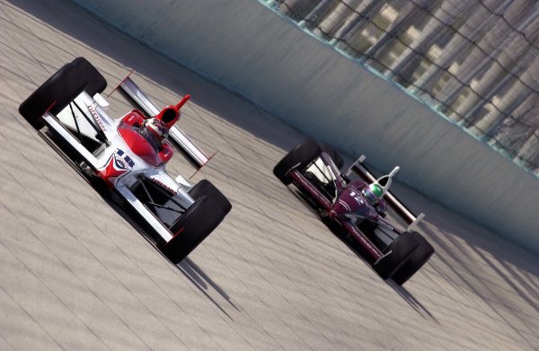
M 193 187 L 195 195 L 199 197 L 196 197 L 194 204 L 172 224 L 171 232 L 175 235 L 171 241 L 163 244 L 161 251 L 173 264 L 180 263 L 192 250 L 195 250 L 230 212 L 232 208 L 230 202 L 215 187 L 213 189 L 212 187 L 209 181 L 203 182 L 198 189 Z M 191 189 L 191 194 L 193 189 Z M 216 197 L 214 189 L 221 197 Z M 203 195 L 202 192 L 209 194 Z

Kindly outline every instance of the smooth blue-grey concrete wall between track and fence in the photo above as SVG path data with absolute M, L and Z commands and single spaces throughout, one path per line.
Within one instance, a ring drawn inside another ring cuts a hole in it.
M 306 134 L 378 169 L 400 165 L 399 180 L 539 252 L 534 174 L 264 4 L 74 1 Z

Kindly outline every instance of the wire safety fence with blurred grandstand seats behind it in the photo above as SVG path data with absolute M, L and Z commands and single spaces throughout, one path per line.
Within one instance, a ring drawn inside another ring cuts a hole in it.
M 535 1 L 266 2 L 538 174 Z

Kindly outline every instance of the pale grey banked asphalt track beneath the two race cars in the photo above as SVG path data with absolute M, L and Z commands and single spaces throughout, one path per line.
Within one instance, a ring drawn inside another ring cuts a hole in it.
M 0 22 L 0 350 L 539 349 L 536 255 L 397 185 L 437 252 L 385 282 L 274 179 L 299 133 L 69 2 L 0 1 Z M 193 181 L 234 208 L 179 266 L 17 112 L 78 56 L 107 94 L 134 68 L 160 105 L 193 96 L 181 127 L 218 151 Z

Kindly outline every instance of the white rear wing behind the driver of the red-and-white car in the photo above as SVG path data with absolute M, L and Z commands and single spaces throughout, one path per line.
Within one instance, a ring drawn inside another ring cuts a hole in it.
M 156 116 L 161 111 L 153 101 L 151 101 L 144 92 L 140 90 L 130 77 L 127 77 L 119 84 L 122 91 L 128 94 L 137 105 L 149 116 Z M 173 126 L 169 131 L 172 141 L 178 145 L 181 150 L 199 167 L 202 167 L 209 161 L 209 157 L 196 145 L 189 136 L 187 136 L 179 127 Z

